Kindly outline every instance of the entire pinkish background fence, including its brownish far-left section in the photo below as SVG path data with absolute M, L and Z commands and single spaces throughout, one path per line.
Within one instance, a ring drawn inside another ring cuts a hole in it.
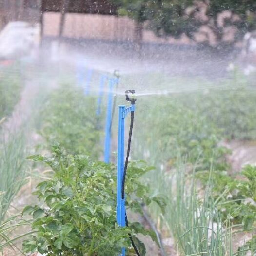
M 30 8 L 24 7 L 22 0 L 0 0 L 0 29 L 10 21 L 40 23 L 39 2 L 40 0 L 35 0 L 35 6 Z M 59 36 L 60 16 L 59 12 L 43 13 L 43 36 Z M 134 20 L 116 15 L 86 13 L 66 13 L 62 35 L 71 39 L 98 39 L 116 42 L 133 42 L 138 39 Z M 158 38 L 152 31 L 144 28 L 142 42 L 189 44 L 191 40 L 185 35 L 182 35 L 180 39 Z

